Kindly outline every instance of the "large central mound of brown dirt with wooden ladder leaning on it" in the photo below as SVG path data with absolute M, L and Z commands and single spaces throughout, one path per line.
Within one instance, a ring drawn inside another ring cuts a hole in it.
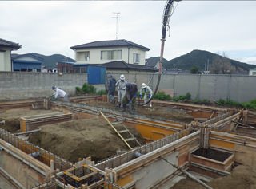
M 71 120 L 41 128 L 41 132 L 30 134 L 29 141 L 72 163 L 88 156 L 98 162 L 129 149 L 106 120 Z M 144 144 L 136 129 L 130 131 Z

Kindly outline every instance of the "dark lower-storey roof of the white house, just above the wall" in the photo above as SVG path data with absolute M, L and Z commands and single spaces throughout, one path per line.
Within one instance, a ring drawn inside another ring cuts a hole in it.
M 102 66 L 106 67 L 106 69 L 127 69 L 127 70 L 158 72 L 158 69 L 155 69 L 146 65 L 127 64 L 125 61 L 111 61 L 111 62 L 102 64 Z

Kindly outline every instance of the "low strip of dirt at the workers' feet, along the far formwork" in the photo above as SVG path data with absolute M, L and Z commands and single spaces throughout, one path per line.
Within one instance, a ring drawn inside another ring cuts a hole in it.
M 94 106 L 98 108 L 108 108 L 115 111 L 122 111 L 122 108 L 117 108 L 117 104 L 111 104 L 110 102 L 90 102 L 83 103 L 88 106 Z M 142 115 L 142 116 L 150 116 L 151 118 L 162 118 L 165 120 L 174 120 L 182 123 L 190 123 L 194 120 L 194 117 L 186 112 L 174 109 L 170 107 L 160 106 L 158 104 L 153 104 L 153 107 L 147 106 L 139 106 L 136 105 L 136 111 L 134 114 Z M 128 110 L 127 110 L 128 112 Z

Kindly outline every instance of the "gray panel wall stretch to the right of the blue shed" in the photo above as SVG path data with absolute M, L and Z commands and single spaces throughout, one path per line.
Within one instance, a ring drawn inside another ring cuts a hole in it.
M 112 73 L 119 79 L 120 73 Z M 135 82 L 138 90 L 142 83 L 154 89 L 158 74 L 126 73 L 126 81 Z M 174 96 L 190 93 L 192 99 L 198 100 L 234 100 L 249 102 L 256 99 L 256 77 L 242 75 L 196 75 L 196 74 L 162 74 L 159 89 L 173 90 Z

